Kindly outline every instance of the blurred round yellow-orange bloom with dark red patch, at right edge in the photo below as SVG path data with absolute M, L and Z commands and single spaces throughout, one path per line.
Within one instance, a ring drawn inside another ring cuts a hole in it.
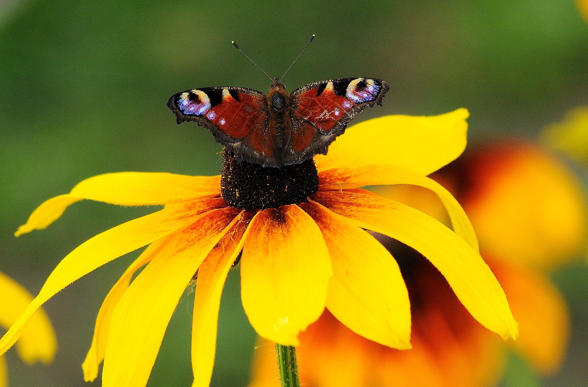
M 461 169 L 454 176 L 462 187 L 450 186 L 455 177 L 440 182 L 462 191 L 457 195 L 485 256 L 549 268 L 582 248 L 586 198 L 562 161 L 522 141 L 464 156 L 454 167 Z

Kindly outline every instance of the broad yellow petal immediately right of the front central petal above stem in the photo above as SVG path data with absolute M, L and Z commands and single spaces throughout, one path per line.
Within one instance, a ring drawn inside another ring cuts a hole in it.
M 326 306 L 353 332 L 410 348 L 410 302 L 400 268 L 373 236 L 316 204 L 303 204 L 323 233 L 333 276 Z

